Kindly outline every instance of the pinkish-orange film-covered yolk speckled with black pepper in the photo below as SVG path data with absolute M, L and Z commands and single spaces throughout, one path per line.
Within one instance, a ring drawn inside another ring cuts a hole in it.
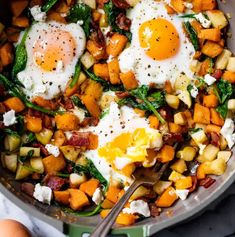
M 76 42 L 64 30 L 44 30 L 34 43 L 33 55 L 36 64 L 45 71 L 56 71 L 58 62 L 72 62 L 76 53 Z

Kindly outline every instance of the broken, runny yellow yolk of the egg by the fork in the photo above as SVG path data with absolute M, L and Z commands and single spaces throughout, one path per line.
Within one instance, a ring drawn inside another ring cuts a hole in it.
M 153 148 L 157 140 L 161 140 L 157 130 L 148 131 L 137 128 L 133 133 L 122 133 L 105 146 L 98 149 L 98 154 L 113 166 L 116 158 L 128 158 L 131 162 L 144 162 L 148 157 L 148 149 Z

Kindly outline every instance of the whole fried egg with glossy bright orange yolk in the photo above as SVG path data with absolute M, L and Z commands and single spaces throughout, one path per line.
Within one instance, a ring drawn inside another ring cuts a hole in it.
M 174 83 L 180 73 L 193 77 L 193 45 L 183 31 L 183 19 L 168 15 L 164 1 L 140 0 L 127 16 L 132 41 L 119 56 L 122 72 L 133 71 L 140 85 Z

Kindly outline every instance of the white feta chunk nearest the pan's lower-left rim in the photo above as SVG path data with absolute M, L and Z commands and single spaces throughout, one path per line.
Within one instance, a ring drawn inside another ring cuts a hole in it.
M 50 205 L 52 199 L 52 190 L 47 186 L 41 186 L 40 183 L 35 185 L 33 196 L 39 202 Z

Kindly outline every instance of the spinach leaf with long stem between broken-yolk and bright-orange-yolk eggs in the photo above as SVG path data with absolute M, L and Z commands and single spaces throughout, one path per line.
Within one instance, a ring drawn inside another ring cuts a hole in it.
M 147 98 L 148 91 L 149 91 L 149 87 L 146 85 L 142 85 L 141 87 L 137 89 L 131 90 L 130 95 L 134 96 L 137 99 L 142 100 L 146 104 L 148 110 L 152 111 L 161 123 L 165 123 L 166 121 L 164 120 L 164 118 L 157 112 L 154 105 L 148 100 Z

